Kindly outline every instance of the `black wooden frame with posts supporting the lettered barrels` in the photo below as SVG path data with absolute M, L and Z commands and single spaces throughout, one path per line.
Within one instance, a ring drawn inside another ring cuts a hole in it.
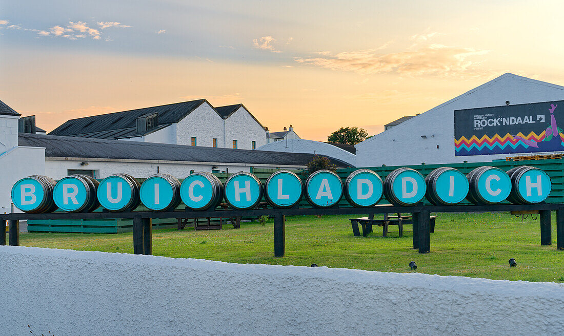
M 430 215 L 431 213 L 466 213 L 466 212 L 502 212 L 502 211 L 540 211 L 540 244 L 552 244 L 552 223 L 550 212 L 556 210 L 557 249 L 564 250 L 564 204 L 531 204 L 531 205 L 454 205 L 454 206 L 394 206 L 376 205 L 373 207 L 339 207 L 328 208 L 299 208 L 290 209 L 254 209 L 254 210 L 210 210 L 210 211 L 133 211 L 111 213 L 50 213 L 0 214 L 0 222 L 8 220 L 8 244 L 19 245 L 19 221 L 21 219 L 133 219 L 133 249 L 135 254 L 152 254 L 152 218 L 220 218 L 220 217 L 259 217 L 272 216 L 274 218 L 274 256 L 284 257 L 286 250 L 285 219 L 286 215 L 354 215 L 386 213 L 412 213 L 413 218 L 413 248 L 419 253 L 431 250 Z M 0 238 L 0 245 L 5 245 Z

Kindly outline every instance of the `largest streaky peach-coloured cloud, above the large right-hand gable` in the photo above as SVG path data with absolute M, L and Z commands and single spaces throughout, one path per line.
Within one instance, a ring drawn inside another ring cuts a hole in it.
M 376 49 L 320 53 L 316 58 L 295 58 L 297 63 L 359 74 L 396 73 L 400 76 L 479 77 L 479 62 L 470 58 L 487 54 L 474 48 L 428 45 L 415 51 L 382 54 Z

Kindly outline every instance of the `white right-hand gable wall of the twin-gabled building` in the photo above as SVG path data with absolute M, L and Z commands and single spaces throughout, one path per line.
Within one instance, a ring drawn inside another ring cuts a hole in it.
M 225 148 L 233 148 L 233 140 L 237 140 L 237 149 L 252 149 L 251 142 L 256 142 L 256 148 L 266 144 L 266 131 L 243 107 L 237 109 L 225 120 Z

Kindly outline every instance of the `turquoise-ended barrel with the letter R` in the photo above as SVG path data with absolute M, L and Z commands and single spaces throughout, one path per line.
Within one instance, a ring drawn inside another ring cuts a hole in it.
M 96 195 L 98 181 L 90 176 L 76 174 L 60 179 L 53 189 L 55 204 L 69 213 L 89 213 L 98 209 Z

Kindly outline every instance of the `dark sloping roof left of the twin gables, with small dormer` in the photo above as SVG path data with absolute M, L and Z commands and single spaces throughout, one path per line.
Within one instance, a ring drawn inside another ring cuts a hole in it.
M 49 135 L 80 136 L 98 139 L 120 139 L 145 135 L 169 126 L 171 123 L 179 122 L 205 102 L 205 99 L 199 99 L 72 119 L 49 132 Z M 136 118 L 153 113 L 158 113 L 158 127 L 147 132 L 138 133 Z

